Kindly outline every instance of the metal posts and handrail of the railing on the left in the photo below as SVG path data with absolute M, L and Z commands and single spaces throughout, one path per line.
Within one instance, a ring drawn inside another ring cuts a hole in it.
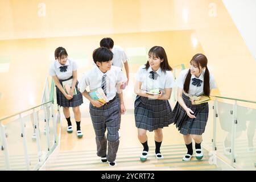
M 33 111 L 32 115 L 33 115 L 33 121 L 34 124 L 33 124 L 33 128 L 34 128 L 34 132 L 36 133 L 36 146 L 38 148 L 38 164 L 36 164 L 36 166 L 34 167 L 34 170 L 38 170 L 41 166 L 42 166 L 42 163 L 46 162 L 48 156 L 52 153 L 53 150 L 55 150 L 56 146 L 57 146 L 57 137 L 56 137 L 56 123 L 58 121 L 58 117 L 54 118 L 53 117 L 53 94 L 54 94 L 54 86 L 55 86 L 55 83 L 54 81 L 52 80 L 51 82 L 51 92 L 49 93 L 49 87 L 48 87 L 48 78 L 46 78 L 46 82 L 45 82 L 45 85 L 44 85 L 44 92 L 43 92 L 43 96 L 42 96 L 42 102 L 44 102 L 43 104 L 40 104 L 40 105 L 36 105 L 34 107 L 31 107 L 30 109 L 26 109 L 26 110 L 23 110 L 23 111 L 19 111 L 18 113 L 15 113 L 15 114 L 12 114 L 12 115 L 9 115 L 7 117 L 3 117 L 0 119 L 0 134 L 1 134 L 1 138 L 3 139 L 2 140 L 2 150 L 4 150 L 5 152 L 5 165 L 6 165 L 6 169 L 7 170 L 10 170 L 11 167 L 10 167 L 10 156 L 9 156 L 9 152 L 8 152 L 8 144 L 7 144 L 7 140 L 6 140 L 6 131 L 5 131 L 5 126 L 2 125 L 2 121 L 5 120 L 5 119 L 8 119 L 8 118 L 11 118 L 11 117 L 16 117 L 18 116 L 18 119 L 19 119 L 19 122 L 20 122 L 20 126 L 21 126 L 21 131 L 22 131 L 22 138 L 23 138 L 23 146 L 24 146 L 24 158 L 26 159 L 26 169 L 27 170 L 30 170 L 30 159 L 29 159 L 29 156 L 28 156 L 28 146 L 27 146 L 27 141 L 26 141 L 26 132 L 24 130 L 24 122 L 23 122 L 23 119 L 22 119 L 22 113 L 25 113 L 27 111 Z M 49 101 L 46 101 L 46 94 L 47 96 L 49 96 Z M 50 104 L 50 105 L 48 105 Z M 38 123 L 38 117 L 36 115 L 36 108 L 40 108 L 40 110 L 43 109 L 44 111 L 44 122 L 46 122 L 46 126 L 45 126 L 45 129 L 46 129 L 46 135 L 47 135 L 47 154 L 43 155 L 42 153 L 42 148 L 41 148 L 41 144 L 40 144 L 40 137 L 39 137 L 39 123 Z M 47 109 L 51 110 L 49 111 L 49 113 L 47 113 Z M 50 117 L 48 114 L 52 113 L 51 115 L 51 119 L 53 119 L 53 145 L 50 144 L 49 142 L 49 120 L 50 120 Z M 58 109 L 58 114 L 60 114 L 59 112 L 59 109 Z

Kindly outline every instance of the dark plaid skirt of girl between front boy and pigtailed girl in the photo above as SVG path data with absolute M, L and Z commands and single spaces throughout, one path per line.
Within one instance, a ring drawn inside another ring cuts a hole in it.
M 168 100 L 151 100 L 137 96 L 134 102 L 135 124 L 139 129 L 153 131 L 169 126 L 171 113 Z

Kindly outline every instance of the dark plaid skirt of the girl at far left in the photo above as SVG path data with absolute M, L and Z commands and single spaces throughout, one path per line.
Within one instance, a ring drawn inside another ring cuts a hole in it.
M 73 77 L 70 77 L 66 80 L 59 80 L 60 81 L 60 85 L 62 85 L 63 81 L 67 81 L 70 80 Z M 77 85 L 79 84 L 79 82 L 76 82 L 76 95 L 73 95 L 73 98 L 71 100 L 67 100 L 67 98 L 64 96 L 64 94 L 60 91 L 59 88 L 57 88 L 56 86 L 56 94 L 57 94 L 57 105 L 59 106 L 63 106 L 63 107 L 77 107 L 80 106 L 83 102 L 82 102 L 82 94 L 81 92 L 77 89 Z

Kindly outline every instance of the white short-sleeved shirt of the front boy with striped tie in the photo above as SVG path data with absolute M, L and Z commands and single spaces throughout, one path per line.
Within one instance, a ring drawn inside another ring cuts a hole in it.
M 106 74 L 106 97 L 112 100 L 117 93 L 116 85 L 120 82 L 126 82 L 127 78 L 121 71 L 121 68 L 112 65 L 111 69 L 106 73 L 102 73 L 95 65 L 88 72 L 84 73 L 79 81 L 78 88 L 80 92 L 84 92 L 86 87 L 89 86 L 90 90 L 101 88 L 102 76 Z

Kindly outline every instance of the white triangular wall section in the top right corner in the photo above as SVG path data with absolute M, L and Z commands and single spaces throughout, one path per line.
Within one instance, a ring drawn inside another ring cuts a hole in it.
M 247 47 L 256 60 L 256 1 L 222 0 Z

